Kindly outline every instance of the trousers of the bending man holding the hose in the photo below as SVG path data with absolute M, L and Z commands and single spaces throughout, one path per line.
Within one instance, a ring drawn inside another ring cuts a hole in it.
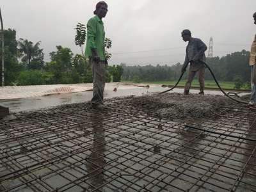
M 199 68 L 198 70 L 189 70 L 189 74 L 188 74 L 188 81 L 185 85 L 185 92 L 189 92 L 190 88 L 191 88 L 191 83 L 194 79 L 194 77 L 196 76 L 196 73 L 198 73 L 198 81 L 200 84 L 200 92 L 204 92 L 204 74 L 205 74 L 205 68 Z

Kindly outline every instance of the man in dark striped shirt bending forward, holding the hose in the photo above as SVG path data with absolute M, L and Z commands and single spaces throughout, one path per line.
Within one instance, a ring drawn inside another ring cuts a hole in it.
M 199 38 L 193 38 L 191 32 L 188 29 L 182 31 L 181 36 L 184 42 L 188 42 L 186 48 L 186 58 L 184 65 L 182 67 L 182 72 L 186 70 L 186 65 L 190 62 L 188 81 L 185 85 L 184 95 L 189 94 L 191 88 L 191 83 L 196 75 L 198 74 L 198 81 L 200 84 L 200 93 L 204 95 L 204 76 L 205 76 L 205 66 L 201 61 L 205 61 L 205 51 L 207 46 Z

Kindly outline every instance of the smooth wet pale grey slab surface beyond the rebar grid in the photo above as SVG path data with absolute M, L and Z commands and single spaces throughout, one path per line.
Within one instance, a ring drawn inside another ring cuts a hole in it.
M 104 92 L 106 99 L 113 97 L 124 97 L 129 95 L 147 95 L 151 93 L 163 92 L 168 88 L 162 88 L 159 85 L 150 85 L 149 88 L 141 88 L 135 86 L 118 85 L 116 92 L 115 84 L 107 84 Z M 174 89 L 172 92 L 183 93 L 183 89 Z M 198 90 L 191 90 L 191 93 L 198 93 Z M 223 95 L 218 91 L 205 91 L 206 94 Z M 246 93 L 241 93 L 244 95 Z M 17 111 L 31 111 L 35 109 L 49 108 L 52 106 L 60 106 L 61 104 L 71 104 L 77 102 L 86 102 L 92 99 L 92 92 L 79 92 L 79 93 L 61 93 L 58 95 L 48 95 L 42 97 L 29 97 L 24 99 L 6 99 L 0 100 L 0 105 L 10 108 L 11 112 Z

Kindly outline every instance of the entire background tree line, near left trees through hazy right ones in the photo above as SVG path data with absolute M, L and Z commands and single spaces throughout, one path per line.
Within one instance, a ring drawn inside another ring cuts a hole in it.
M 75 43 L 81 47 L 81 54 L 74 54 L 68 47 L 56 46 L 56 51 L 50 52 L 51 61 L 44 61 L 44 50 L 40 48 L 41 42 L 35 44 L 29 40 L 20 38 L 16 40 L 14 29 L 4 30 L 4 63 L 6 85 L 30 85 L 30 84 L 68 84 L 68 83 L 92 83 L 92 68 L 87 58 L 84 58 L 84 42 L 86 40 L 86 28 L 78 23 L 76 26 Z M 106 38 L 106 58 L 111 58 L 108 49 L 111 40 Z M 239 51 L 227 54 L 223 57 L 207 58 L 207 63 L 212 68 L 219 81 L 231 81 L 237 87 L 250 87 L 250 67 L 248 65 L 250 52 Z M 1 57 L 1 54 L 0 54 Z M 147 66 L 108 66 L 106 81 L 175 81 L 180 76 L 182 65 L 147 65 Z M 1 68 L 0 68 L 1 69 Z M 1 74 L 1 73 L 0 73 Z M 186 79 L 186 74 L 183 77 Z M 208 70 L 205 79 L 212 80 Z

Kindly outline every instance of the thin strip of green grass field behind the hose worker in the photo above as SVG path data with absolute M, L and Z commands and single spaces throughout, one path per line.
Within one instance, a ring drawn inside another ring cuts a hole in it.
M 126 82 L 127 81 L 122 81 Z M 131 82 L 129 82 L 131 83 Z M 154 81 L 154 82 L 141 82 L 143 84 L 166 84 L 166 85 L 174 85 L 176 81 Z M 184 86 L 186 83 L 186 80 L 181 80 L 180 83 L 178 84 L 179 86 Z M 235 83 L 234 82 L 227 82 L 227 81 L 220 81 L 220 86 L 221 88 L 224 89 L 234 89 Z M 192 83 L 192 86 L 199 87 L 198 80 L 194 80 Z M 218 88 L 217 84 L 215 81 L 205 81 L 205 88 Z M 248 88 L 242 87 L 241 90 L 248 90 Z

